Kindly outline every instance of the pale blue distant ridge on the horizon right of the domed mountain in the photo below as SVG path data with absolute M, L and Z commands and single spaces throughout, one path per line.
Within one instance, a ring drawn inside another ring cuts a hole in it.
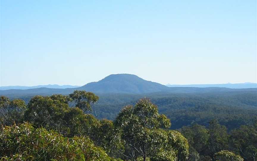
M 187 84 L 187 85 L 178 85 L 178 84 L 167 84 L 167 87 L 220 87 L 220 88 L 233 88 L 233 89 L 242 89 L 242 88 L 257 88 L 257 83 L 227 83 L 227 84 Z

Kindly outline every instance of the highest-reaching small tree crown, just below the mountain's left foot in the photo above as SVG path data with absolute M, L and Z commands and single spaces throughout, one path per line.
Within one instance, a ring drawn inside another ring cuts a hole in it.
M 84 112 L 92 111 L 91 104 L 98 101 L 99 97 L 92 92 L 75 90 L 69 95 L 71 100 L 76 103 L 76 107 L 82 109 Z

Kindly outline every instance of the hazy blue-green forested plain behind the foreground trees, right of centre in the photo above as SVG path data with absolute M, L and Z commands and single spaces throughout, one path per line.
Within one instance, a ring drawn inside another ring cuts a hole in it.
M 151 94 L 100 94 L 93 105 L 98 119 L 115 119 L 128 104 L 134 105 L 140 98 L 149 98 L 158 105 L 159 112 L 168 116 L 172 129 L 194 122 L 208 125 L 211 119 L 219 119 L 228 129 L 248 124 L 257 116 L 257 93 L 233 91 L 216 93 L 151 93 Z M 95 114 L 95 112 L 93 113 Z

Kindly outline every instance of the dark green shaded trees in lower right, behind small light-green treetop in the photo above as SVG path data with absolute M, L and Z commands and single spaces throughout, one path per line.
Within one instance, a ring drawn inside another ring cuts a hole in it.
M 247 161 L 254 161 L 257 155 L 256 124 L 243 125 L 227 133 L 224 126 L 212 120 L 208 128 L 194 124 L 182 127 L 181 133 L 189 142 L 190 161 L 216 160 L 215 155 L 220 151 L 231 151 Z M 223 160 L 226 159 L 223 157 Z

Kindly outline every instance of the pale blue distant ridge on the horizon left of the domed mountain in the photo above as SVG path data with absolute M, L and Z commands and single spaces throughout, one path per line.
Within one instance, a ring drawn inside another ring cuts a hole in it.
M 39 85 L 39 86 L 0 86 L 0 90 L 8 89 L 34 89 L 34 88 L 55 88 L 55 89 L 65 89 L 65 88 L 77 88 L 81 86 L 71 86 L 71 85 L 57 85 L 57 84 L 48 84 L 48 85 Z

